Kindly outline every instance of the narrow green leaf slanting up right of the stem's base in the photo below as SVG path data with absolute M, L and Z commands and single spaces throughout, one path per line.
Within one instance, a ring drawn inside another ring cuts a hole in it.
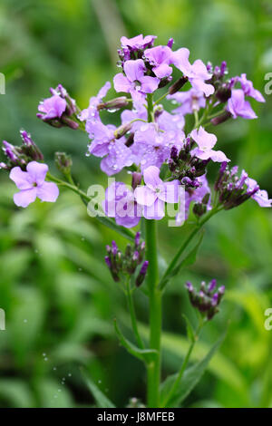
M 195 363 L 189 367 L 183 374 L 178 391 L 168 401 L 168 395 L 173 383 L 178 377 L 178 373 L 172 374 L 161 384 L 160 401 L 164 402 L 168 407 L 178 407 L 180 403 L 189 395 L 189 393 L 198 384 L 201 376 L 208 367 L 209 360 L 223 342 L 226 333 L 222 334 L 216 344 L 212 346 L 209 353 L 199 363 Z M 163 403 L 163 406 L 165 406 Z

